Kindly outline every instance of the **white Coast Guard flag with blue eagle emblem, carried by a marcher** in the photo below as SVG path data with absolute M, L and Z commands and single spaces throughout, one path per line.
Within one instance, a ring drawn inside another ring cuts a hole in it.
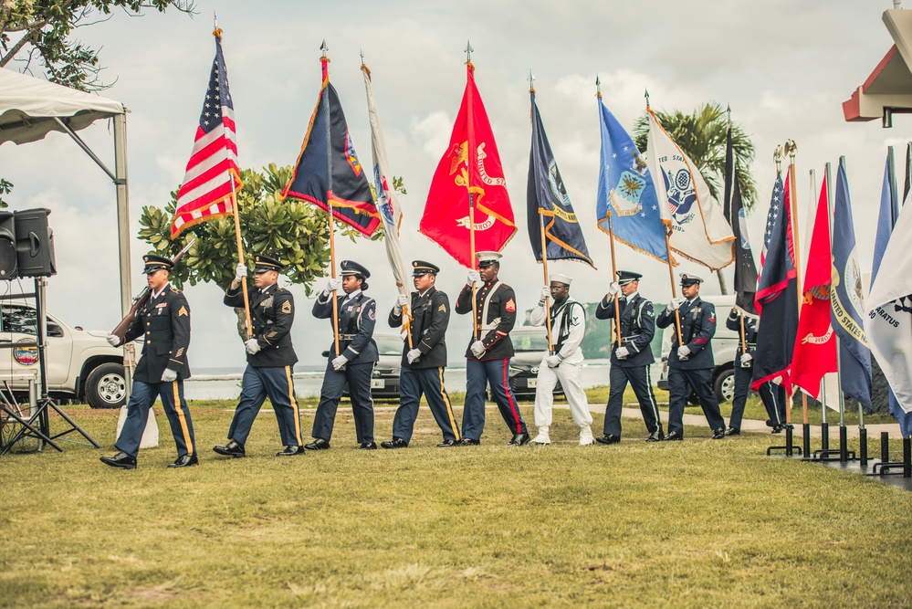
M 671 226 L 671 248 L 710 270 L 735 259 L 735 236 L 697 166 L 649 112 L 647 164 L 653 175 L 662 221 Z

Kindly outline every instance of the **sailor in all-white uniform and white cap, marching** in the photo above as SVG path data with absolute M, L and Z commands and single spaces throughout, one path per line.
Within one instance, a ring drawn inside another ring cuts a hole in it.
M 548 277 L 549 287 L 541 289 L 539 306 L 529 315 L 529 324 L 545 325 L 550 317 L 552 351 L 545 356 L 539 366 L 535 383 L 535 425 L 539 433 L 532 444 L 548 445 L 551 443 L 549 427 L 551 425 L 551 408 L 554 405 L 554 387 L 561 382 L 563 394 L 570 403 L 570 414 L 573 423 L 580 428 L 580 446 L 591 446 L 592 413 L 589 412 L 589 401 L 582 388 L 582 337 L 586 333 L 586 310 L 570 298 L 572 279 L 566 275 L 552 274 Z M 553 300 L 550 310 L 545 307 L 547 298 Z

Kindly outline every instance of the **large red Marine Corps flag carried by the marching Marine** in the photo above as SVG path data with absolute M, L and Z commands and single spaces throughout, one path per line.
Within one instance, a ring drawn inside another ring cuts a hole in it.
M 498 145 L 466 62 L 466 92 L 450 144 L 427 193 L 419 232 L 456 261 L 475 268 L 475 252 L 499 252 L 516 234 Z

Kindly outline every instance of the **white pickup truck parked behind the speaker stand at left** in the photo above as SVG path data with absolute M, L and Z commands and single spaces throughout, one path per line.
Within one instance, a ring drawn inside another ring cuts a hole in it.
M 92 408 L 120 408 L 126 403 L 123 350 L 108 344 L 107 331 L 70 328 L 47 315 L 47 392 L 51 397 L 88 402 Z M 37 340 L 35 307 L 15 301 L 0 304 L 0 374 L 36 371 L 37 347 L 16 347 Z M 14 391 L 25 385 L 14 383 Z

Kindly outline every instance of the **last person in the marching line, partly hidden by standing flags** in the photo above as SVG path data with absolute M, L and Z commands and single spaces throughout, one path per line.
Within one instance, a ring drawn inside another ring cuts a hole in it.
M 754 355 L 757 348 L 757 320 L 744 315 L 732 307 L 729 319 L 725 320 L 725 327 L 729 330 L 741 332 L 741 317 L 744 318 L 744 342 L 747 343 L 747 352 L 742 352 L 741 341 L 738 341 L 738 350 L 735 352 L 735 394 L 731 398 L 731 417 L 729 428 L 725 430 L 726 436 L 738 436 L 741 433 L 741 417 L 744 415 L 744 405 L 748 401 L 750 378 L 753 375 Z M 760 385 L 760 399 L 770 416 L 770 426 L 773 434 L 780 434 L 785 429 L 785 388 L 781 384 L 770 381 Z

